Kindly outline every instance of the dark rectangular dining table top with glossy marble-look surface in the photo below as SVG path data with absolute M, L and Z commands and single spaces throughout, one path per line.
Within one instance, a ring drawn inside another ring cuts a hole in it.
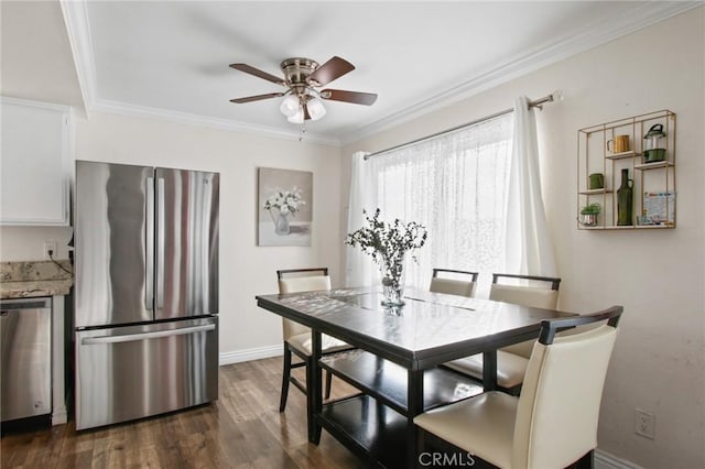
M 405 305 L 380 305 L 379 288 L 258 295 L 280 316 L 394 361 L 424 369 L 536 339 L 541 321 L 572 313 L 406 288 Z

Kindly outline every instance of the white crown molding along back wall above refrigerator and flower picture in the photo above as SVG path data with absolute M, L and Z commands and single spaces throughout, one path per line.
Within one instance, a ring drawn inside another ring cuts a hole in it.
M 338 139 L 306 132 L 303 138 L 300 132 L 281 130 L 278 128 L 257 126 L 247 122 L 238 122 L 229 119 L 217 119 L 207 116 L 192 114 L 166 109 L 150 108 L 145 106 L 128 105 L 124 102 L 99 99 L 93 107 L 94 111 L 121 116 L 133 116 L 148 119 L 158 119 L 169 122 L 188 126 L 206 127 L 216 130 L 236 131 L 262 137 L 271 137 L 283 140 L 296 140 L 308 143 L 321 143 L 329 146 L 340 146 Z

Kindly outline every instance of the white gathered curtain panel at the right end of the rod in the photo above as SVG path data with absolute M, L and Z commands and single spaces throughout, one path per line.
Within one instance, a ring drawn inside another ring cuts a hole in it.
M 541 197 L 536 120 L 529 99 L 514 100 L 514 135 L 507 195 L 505 272 L 555 276 Z

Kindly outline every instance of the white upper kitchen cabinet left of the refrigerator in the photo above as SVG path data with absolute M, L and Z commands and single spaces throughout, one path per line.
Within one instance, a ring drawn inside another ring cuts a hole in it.
M 70 108 L 0 98 L 0 225 L 68 226 Z

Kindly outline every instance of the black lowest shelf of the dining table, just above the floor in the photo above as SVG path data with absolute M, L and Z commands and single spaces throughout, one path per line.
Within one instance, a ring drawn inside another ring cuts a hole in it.
M 326 404 L 318 422 L 350 451 L 371 465 L 408 467 L 406 417 L 373 397 L 362 394 Z

